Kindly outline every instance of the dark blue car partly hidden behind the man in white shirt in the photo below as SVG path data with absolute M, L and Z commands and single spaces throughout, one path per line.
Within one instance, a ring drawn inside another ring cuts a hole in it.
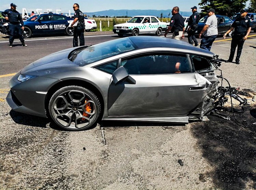
M 218 35 L 224 34 L 228 31 L 229 27 L 232 25 L 233 21 L 228 16 L 215 15 L 218 20 Z M 198 29 L 195 34 L 199 34 L 206 23 L 208 16 L 204 16 L 199 20 Z M 231 36 L 232 32 L 229 32 L 229 36 Z

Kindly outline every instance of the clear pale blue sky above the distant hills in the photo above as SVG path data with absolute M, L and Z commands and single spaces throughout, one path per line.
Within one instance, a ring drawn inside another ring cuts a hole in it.
M 22 12 L 22 8 L 26 8 L 30 13 L 36 9 L 42 9 L 45 12 L 47 9 L 60 9 L 61 12 L 73 12 L 73 3 L 78 3 L 83 12 L 97 12 L 109 9 L 153 9 L 167 10 L 173 6 L 179 6 L 180 11 L 191 11 L 192 6 L 198 6 L 200 0 L 0 0 L 0 11 L 10 9 L 10 4 L 17 5 L 17 11 Z M 249 2 L 248 2 L 249 3 Z M 247 4 L 248 4 L 247 3 Z M 200 9 L 198 9 L 200 11 Z

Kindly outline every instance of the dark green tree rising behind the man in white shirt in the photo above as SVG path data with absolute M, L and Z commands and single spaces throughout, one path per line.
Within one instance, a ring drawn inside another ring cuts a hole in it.
M 232 16 L 245 8 L 246 2 L 247 0 L 201 0 L 198 5 L 201 6 L 202 16 L 206 15 L 210 8 L 215 10 L 215 14 Z

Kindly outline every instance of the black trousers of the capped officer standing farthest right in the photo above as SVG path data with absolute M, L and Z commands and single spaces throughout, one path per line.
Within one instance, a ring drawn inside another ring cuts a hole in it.
M 236 57 L 236 62 L 240 61 L 240 56 L 242 54 L 242 49 L 244 45 L 244 40 L 243 40 L 243 35 L 237 36 L 237 35 L 232 35 L 232 41 L 231 41 L 231 48 L 230 48 L 230 55 L 229 55 L 229 60 L 234 59 L 234 53 L 237 48 L 237 57 Z

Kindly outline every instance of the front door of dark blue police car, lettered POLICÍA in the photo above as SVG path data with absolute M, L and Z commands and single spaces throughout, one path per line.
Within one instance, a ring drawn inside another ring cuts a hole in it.
M 51 34 L 54 32 L 52 15 L 45 14 L 37 19 L 38 25 L 35 26 L 35 30 L 40 34 Z

